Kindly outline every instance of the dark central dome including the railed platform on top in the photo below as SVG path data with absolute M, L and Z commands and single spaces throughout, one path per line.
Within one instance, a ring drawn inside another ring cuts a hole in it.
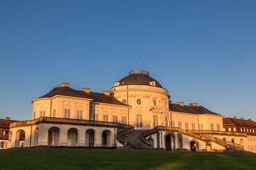
M 120 79 L 119 86 L 122 85 L 146 85 L 156 86 L 162 88 L 161 84 L 155 79 L 149 77 L 149 72 L 144 70 L 135 69 L 129 72 L 129 76 Z

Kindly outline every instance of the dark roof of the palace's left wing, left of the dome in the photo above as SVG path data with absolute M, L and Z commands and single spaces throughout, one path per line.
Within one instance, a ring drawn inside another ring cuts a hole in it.
M 55 87 L 53 90 L 51 90 L 48 94 L 45 94 L 39 98 L 52 98 L 54 96 L 70 96 L 70 97 L 76 97 L 76 98 L 87 98 L 91 99 L 92 102 L 97 103 L 110 103 L 114 105 L 122 105 L 127 106 L 126 104 L 122 103 L 121 101 L 118 101 L 117 98 L 114 98 L 110 94 L 110 96 L 95 92 L 86 93 L 85 91 L 79 91 L 70 88 L 69 86 L 58 86 Z

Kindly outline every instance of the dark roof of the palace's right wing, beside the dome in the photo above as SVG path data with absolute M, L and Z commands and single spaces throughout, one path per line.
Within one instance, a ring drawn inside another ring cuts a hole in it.
M 170 111 L 181 113 L 219 115 L 217 113 L 209 111 L 207 108 L 204 108 L 203 106 L 181 106 L 179 104 L 171 103 L 169 109 Z

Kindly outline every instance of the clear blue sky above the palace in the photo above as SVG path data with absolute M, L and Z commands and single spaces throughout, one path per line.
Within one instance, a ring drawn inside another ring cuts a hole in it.
M 109 90 L 132 69 L 226 118 L 256 120 L 255 0 L 0 0 L 0 118 L 63 82 Z

